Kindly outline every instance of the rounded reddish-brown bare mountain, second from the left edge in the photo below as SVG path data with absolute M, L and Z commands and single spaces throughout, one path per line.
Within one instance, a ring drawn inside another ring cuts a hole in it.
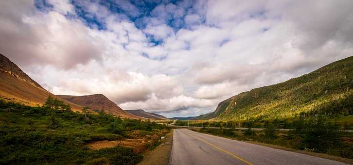
M 104 110 L 107 114 L 112 114 L 116 116 L 121 116 L 124 118 L 135 118 L 141 119 L 136 115 L 125 112 L 113 101 L 106 98 L 102 94 L 88 95 L 88 96 L 69 96 L 69 95 L 56 95 L 61 99 L 68 100 L 80 106 L 88 106 L 91 110 L 95 112 L 100 112 Z

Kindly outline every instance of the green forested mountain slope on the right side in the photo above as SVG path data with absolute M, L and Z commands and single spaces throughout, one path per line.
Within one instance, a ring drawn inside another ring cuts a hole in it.
M 265 119 L 301 112 L 353 113 L 353 56 L 286 82 L 240 93 L 199 119 Z

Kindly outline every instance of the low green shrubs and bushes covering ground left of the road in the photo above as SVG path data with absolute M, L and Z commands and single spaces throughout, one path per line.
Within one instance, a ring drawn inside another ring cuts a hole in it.
M 100 112 L 72 112 L 62 101 L 48 98 L 43 107 L 0 100 L 0 164 L 111 164 L 133 165 L 142 153 L 116 146 L 93 150 L 87 144 L 102 140 L 144 138 L 145 150 L 159 144 L 156 132 L 165 125 L 122 119 Z M 160 135 L 160 134 L 159 134 Z M 152 138 L 155 137 L 155 138 Z

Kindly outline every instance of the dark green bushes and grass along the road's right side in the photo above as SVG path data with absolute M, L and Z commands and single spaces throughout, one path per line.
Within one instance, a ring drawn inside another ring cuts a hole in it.
M 263 131 L 254 131 L 254 122 L 244 122 L 247 130 L 241 133 L 234 127 L 230 129 L 195 129 L 198 132 L 231 137 L 237 140 L 256 141 L 260 143 L 278 145 L 286 148 L 306 150 L 310 152 L 327 153 L 353 159 L 353 133 L 344 132 L 327 117 L 296 117 L 291 121 L 267 120 Z M 216 126 L 216 125 L 215 125 Z M 278 131 L 276 128 L 291 128 L 290 131 Z

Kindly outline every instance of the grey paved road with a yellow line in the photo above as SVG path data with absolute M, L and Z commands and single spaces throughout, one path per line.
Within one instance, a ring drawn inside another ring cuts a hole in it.
M 174 129 L 171 165 L 345 165 L 341 162 Z

